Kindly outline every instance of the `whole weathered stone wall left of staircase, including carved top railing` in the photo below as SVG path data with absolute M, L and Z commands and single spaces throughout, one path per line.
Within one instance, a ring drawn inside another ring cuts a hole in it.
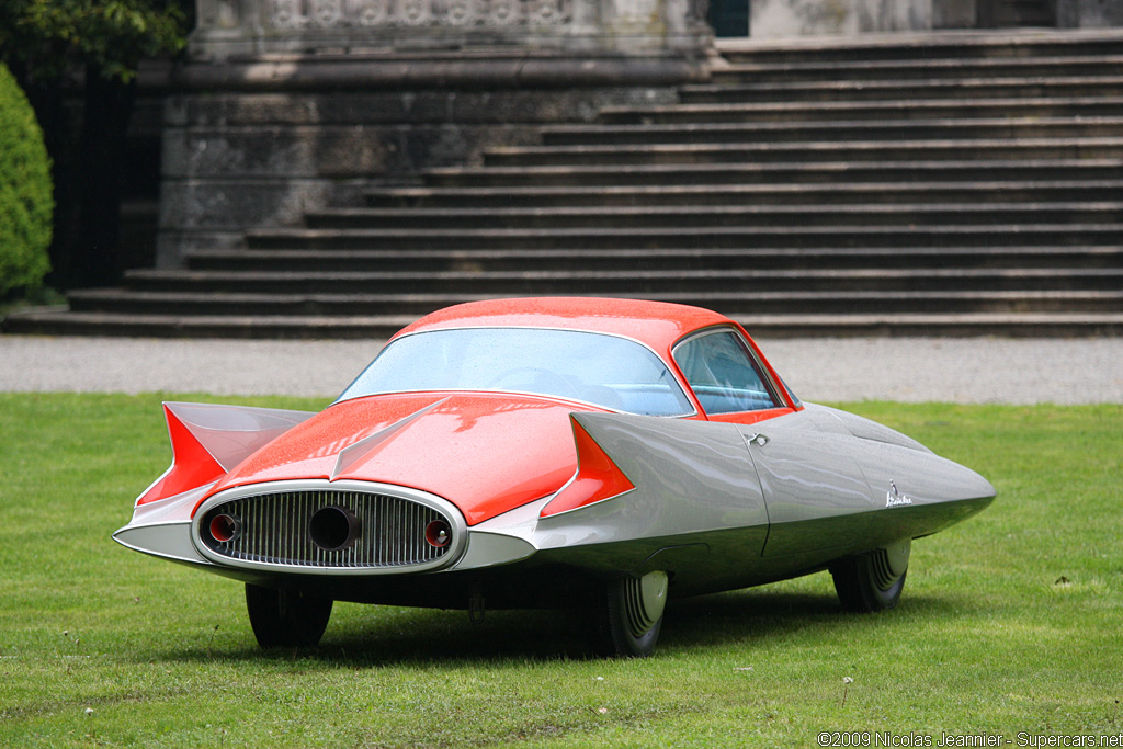
M 709 75 L 705 0 L 198 0 L 157 266 Z

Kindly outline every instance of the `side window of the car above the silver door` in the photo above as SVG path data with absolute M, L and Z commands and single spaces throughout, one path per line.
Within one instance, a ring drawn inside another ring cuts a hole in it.
M 779 408 L 760 365 L 732 330 L 714 330 L 675 347 L 675 362 L 706 413 Z

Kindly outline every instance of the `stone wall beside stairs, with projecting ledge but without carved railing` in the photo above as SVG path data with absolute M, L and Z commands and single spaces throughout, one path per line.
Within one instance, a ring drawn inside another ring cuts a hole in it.
M 317 55 L 189 64 L 165 104 L 158 267 L 241 244 L 375 184 L 476 165 L 544 125 L 663 104 L 704 61 L 639 56 Z

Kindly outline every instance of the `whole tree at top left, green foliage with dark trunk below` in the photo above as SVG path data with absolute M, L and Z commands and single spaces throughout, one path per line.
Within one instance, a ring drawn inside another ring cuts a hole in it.
M 186 45 L 192 4 L 0 0 L 0 63 L 30 99 L 54 161 L 51 283 L 74 287 L 116 280 L 137 67 Z

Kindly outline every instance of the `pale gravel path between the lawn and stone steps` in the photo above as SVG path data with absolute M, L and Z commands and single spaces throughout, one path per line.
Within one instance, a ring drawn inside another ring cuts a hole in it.
M 1123 339 L 758 341 L 809 401 L 1123 403 Z M 0 391 L 337 395 L 382 342 L 0 336 Z

